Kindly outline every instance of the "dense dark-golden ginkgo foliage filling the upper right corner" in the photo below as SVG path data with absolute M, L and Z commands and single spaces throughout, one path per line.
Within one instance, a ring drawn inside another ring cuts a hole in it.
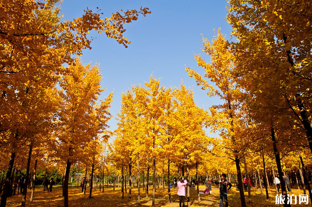
M 229 1 L 227 15 L 232 35 L 238 39 L 231 43 L 237 63 L 235 74 L 251 95 L 270 91 L 273 94 L 268 94 L 266 101 L 293 113 L 289 118 L 302 126 L 312 153 L 311 5 L 307 0 L 245 3 Z

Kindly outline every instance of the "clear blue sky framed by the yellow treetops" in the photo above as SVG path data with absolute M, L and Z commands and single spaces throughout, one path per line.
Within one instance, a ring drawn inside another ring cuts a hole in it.
M 194 99 L 199 107 L 208 110 L 218 104 L 217 98 L 206 95 L 194 79 L 188 77 L 185 65 L 203 73 L 197 66 L 194 53 L 201 51 L 203 34 L 206 38 L 213 37 L 213 29 L 221 28 L 229 38 L 230 25 L 226 22 L 225 0 L 202 1 L 100 1 L 100 0 L 64 0 L 62 20 L 81 17 L 87 7 L 96 11 L 101 9 L 103 18 L 123 9 L 139 9 L 147 7 L 151 11 L 146 17 L 139 16 L 137 21 L 126 24 L 124 35 L 131 41 L 128 48 L 118 44 L 114 39 L 90 32 L 96 39 L 91 43 L 91 50 L 84 50 L 84 63 L 99 63 L 102 71 L 102 87 L 106 88 L 104 96 L 114 90 L 114 101 L 110 109 L 113 118 L 109 121 L 110 130 L 116 129 L 116 113 L 120 111 L 121 95 L 131 85 L 143 84 L 151 74 L 161 79 L 166 87 L 179 86 L 183 79 L 186 87 L 193 87 Z

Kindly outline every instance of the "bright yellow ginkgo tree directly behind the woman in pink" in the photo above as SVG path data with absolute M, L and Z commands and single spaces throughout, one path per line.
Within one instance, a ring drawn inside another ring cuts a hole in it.
M 198 166 L 201 154 L 209 144 L 203 130 L 207 112 L 195 105 L 193 91 L 186 89 L 183 83 L 180 88 L 175 88 L 173 97 L 174 111 L 169 124 L 172 128 L 172 142 L 175 143 L 173 162 L 186 167 L 187 178 L 190 180 L 190 168 Z M 200 195 L 198 196 L 200 201 Z M 187 185 L 187 205 L 190 206 L 189 185 Z

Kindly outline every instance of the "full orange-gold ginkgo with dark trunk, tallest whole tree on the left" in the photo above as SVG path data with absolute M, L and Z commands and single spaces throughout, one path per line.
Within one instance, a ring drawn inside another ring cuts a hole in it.
M 68 68 L 70 73 L 62 76 L 59 96 L 62 100 L 59 110 L 58 134 L 56 142 L 58 156 L 66 163 L 64 175 L 64 205 L 68 206 L 68 178 L 70 166 L 82 157 L 88 143 L 102 133 L 111 118 L 108 112 L 112 101 L 110 93 L 105 101 L 98 96 L 101 89 L 101 74 L 98 66 L 84 66 L 76 59 Z

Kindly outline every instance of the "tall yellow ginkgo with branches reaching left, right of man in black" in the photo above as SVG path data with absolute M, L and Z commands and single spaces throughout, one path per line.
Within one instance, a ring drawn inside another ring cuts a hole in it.
M 223 104 L 210 108 L 211 114 L 207 122 L 214 131 L 220 131 L 223 146 L 231 152 L 230 159 L 235 161 L 237 168 L 241 203 L 242 206 L 246 206 L 240 159 L 246 150 L 246 144 L 250 140 L 241 133 L 246 126 L 244 116 L 240 113 L 240 97 L 243 92 L 231 74 L 236 68 L 236 63 L 220 29 L 211 42 L 203 38 L 203 45 L 204 48 L 202 50 L 210 56 L 211 64 L 205 62 L 200 55 L 196 55 L 195 59 L 198 65 L 205 69 L 205 77 L 213 82 L 216 87 L 211 85 L 196 71 L 188 67 L 185 70 L 190 77 L 196 80 L 198 85 L 203 85 L 202 89 L 208 89 L 207 94 L 209 96 L 217 95 L 224 101 Z

